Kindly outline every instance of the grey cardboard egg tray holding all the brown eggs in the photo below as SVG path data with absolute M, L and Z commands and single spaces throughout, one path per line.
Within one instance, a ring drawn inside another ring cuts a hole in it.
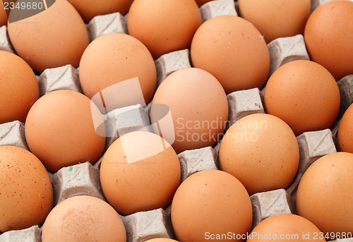
M 328 0 L 312 0 L 312 8 L 316 8 Z M 201 6 L 203 21 L 220 15 L 237 16 L 237 2 L 233 0 L 215 0 Z M 112 13 L 105 16 L 96 16 L 87 25 L 90 40 L 110 32 L 126 32 L 126 16 L 120 13 Z M 8 40 L 6 26 L 0 28 L 0 49 L 13 52 Z M 289 61 L 297 59 L 309 60 L 306 52 L 304 37 L 284 37 L 273 40 L 268 44 L 270 51 L 271 75 L 278 67 Z M 189 50 L 180 50 L 160 56 L 155 61 L 157 68 L 157 85 L 170 73 L 181 68 L 191 67 Z M 82 92 L 78 80 L 78 70 L 70 65 L 45 70 L 37 76 L 40 85 L 40 95 L 54 90 L 74 90 Z M 338 119 L 332 130 L 306 132 L 297 136 L 299 144 L 300 160 L 297 176 L 292 185 L 287 189 L 272 190 L 265 193 L 251 195 L 253 205 L 253 227 L 263 219 L 275 214 L 295 213 L 295 197 L 297 186 L 304 171 L 316 161 L 316 159 L 336 152 L 335 136 L 338 124 L 343 113 L 353 102 L 353 75 L 348 75 L 337 82 L 340 87 L 341 107 Z M 265 113 L 263 109 L 263 90 L 253 88 L 241 90 L 227 95 L 229 102 L 229 123 L 249 114 Z M 107 123 L 107 142 L 105 150 L 117 137 L 109 135 L 119 133 L 124 135 L 150 125 L 148 107 L 140 104 L 131 107 L 116 109 L 105 115 Z M 227 127 L 228 128 L 228 127 Z M 146 131 L 149 131 L 146 128 Z M 112 137 L 109 137 L 112 136 Z M 29 150 L 25 141 L 25 125 L 20 121 L 0 124 L 0 145 L 15 145 Z M 186 150 L 181 152 L 179 162 L 181 164 L 181 182 L 197 171 L 205 169 L 219 169 L 218 150 L 220 143 L 215 147 L 203 147 L 198 150 Z M 49 172 L 54 191 L 54 206 L 75 195 L 92 195 L 105 200 L 100 186 L 100 162 L 94 165 L 86 162 L 71 167 L 64 167 L 55 174 Z M 150 238 L 174 238 L 170 219 L 170 205 L 165 209 L 157 209 L 147 212 L 137 212 L 128 216 L 121 216 L 126 228 L 128 242 L 142 242 Z M 0 242 L 5 241 L 41 241 L 41 228 L 32 226 L 19 231 L 8 231 L 0 234 Z M 337 242 L 352 242 L 353 238 L 337 239 Z

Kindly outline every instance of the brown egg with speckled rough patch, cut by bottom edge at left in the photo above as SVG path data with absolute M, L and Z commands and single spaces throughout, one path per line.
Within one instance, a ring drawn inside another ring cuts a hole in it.
M 107 202 L 79 195 L 60 202 L 45 219 L 43 242 L 126 242 L 119 214 Z

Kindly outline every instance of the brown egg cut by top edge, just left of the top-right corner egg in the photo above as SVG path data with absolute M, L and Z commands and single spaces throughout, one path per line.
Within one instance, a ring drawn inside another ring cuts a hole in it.
M 310 0 L 239 0 L 242 18 L 253 23 L 263 34 L 266 42 L 278 37 L 304 33 L 310 15 Z

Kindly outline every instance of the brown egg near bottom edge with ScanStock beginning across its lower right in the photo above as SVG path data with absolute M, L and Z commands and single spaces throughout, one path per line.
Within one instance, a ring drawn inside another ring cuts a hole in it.
M 189 176 L 172 202 L 172 225 L 178 241 L 244 241 L 252 224 L 252 207 L 244 186 L 224 171 L 205 170 Z M 234 237 L 235 236 L 235 237 Z

